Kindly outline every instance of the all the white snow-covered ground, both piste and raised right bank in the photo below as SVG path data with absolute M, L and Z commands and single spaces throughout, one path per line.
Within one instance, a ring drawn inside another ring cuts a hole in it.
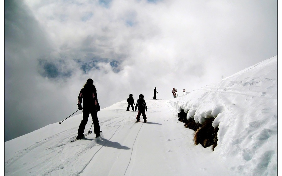
M 69 142 L 80 114 L 5 142 L 5 176 L 278 175 L 277 56 L 187 95 L 146 103 L 147 123 L 135 123 L 126 100 L 99 111 L 97 139 Z M 181 109 L 196 122 L 216 117 L 215 151 L 194 145 L 194 131 L 178 121 Z

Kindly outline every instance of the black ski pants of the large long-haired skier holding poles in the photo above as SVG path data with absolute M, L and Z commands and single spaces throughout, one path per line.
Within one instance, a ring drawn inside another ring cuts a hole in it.
M 82 135 L 84 133 L 85 126 L 88 122 L 89 114 L 91 114 L 91 117 L 93 120 L 94 133 L 100 134 L 100 125 L 99 125 L 99 120 L 97 116 L 97 110 L 95 108 L 91 108 L 91 110 L 87 108 L 83 108 L 82 114 L 83 114 L 83 119 L 81 120 L 81 123 L 78 127 L 78 134 Z

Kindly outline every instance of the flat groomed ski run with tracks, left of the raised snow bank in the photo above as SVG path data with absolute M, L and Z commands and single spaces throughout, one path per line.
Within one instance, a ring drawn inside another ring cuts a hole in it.
M 113 105 L 110 109 L 103 110 L 108 111 L 107 113 L 98 114 L 101 137 L 95 139 L 92 133 L 85 139 L 69 142 L 70 138 L 76 136 L 81 121 L 81 118 L 77 118 L 77 124 L 73 124 L 69 130 L 18 151 L 13 158 L 5 162 L 5 175 L 170 176 L 178 172 L 184 173 L 186 169 L 190 169 L 190 173 L 205 173 L 206 168 L 197 170 L 188 166 L 189 158 L 196 157 L 199 153 L 183 155 L 180 145 L 182 150 L 187 148 L 183 143 L 191 145 L 192 148 L 193 132 L 185 129 L 182 123 L 179 123 L 179 129 L 170 127 L 171 123 L 178 121 L 176 111 L 167 111 L 171 109 L 168 107 L 168 101 L 146 100 L 146 103 L 147 123 L 143 123 L 142 115 L 141 122 L 135 123 L 137 112 L 125 111 L 127 102 L 118 102 L 117 107 Z M 87 123 L 85 133 L 89 131 L 91 124 L 92 121 Z M 165 149 L 158 147 L 160 143 Z M 203 149 L 201 146 L 196 148 L 212 152 L 211 149 Z M 170 158 L 175 154 L 179 155 L 180 163 L 170 162 Z M 201 155 L 204 157 L 204 154 Z

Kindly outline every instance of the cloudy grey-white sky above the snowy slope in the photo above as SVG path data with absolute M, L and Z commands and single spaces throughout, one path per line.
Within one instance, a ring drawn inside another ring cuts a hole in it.
M 5 141 L 75 112 L 88 78 L 105 108 L 130 93 L 152 98 L 155 87 L 157 99 L 173 98 L 173 88 L 180 96 L 275 56 L 277 8 L 276 0 L 5 0 Z M 118 71 L 102 61 L 81 70 L 77 60 L 93 58 L 117 61 Z

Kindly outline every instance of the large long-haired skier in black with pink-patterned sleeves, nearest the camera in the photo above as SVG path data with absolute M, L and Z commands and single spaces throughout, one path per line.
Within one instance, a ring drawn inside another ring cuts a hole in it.
M 83 108 L 81 106 L 83 99 Z M 88 121 L 89 113 L 91 114 L 92 120 L 93 120 L 93 127 L 94 127 L 94 133 L 96 134 L 96 138 L 100 136 L 100 125 L 99 120 L 97 116 L 97 111 L 100 111 L 100 105 L 97 98 L 97 90 L 95 85 L 93 85 L 93 80 L 88 79 L 86 81 L 86 84 L 81 89 L 77 106 L 79 110 L 82 110 L 83 119 L 81 120 L 81 123 L 78 127 L 78 134 L 76 139 L 81 139 L 84 137 L 84 129 L 86 126 L 86 123 Z

